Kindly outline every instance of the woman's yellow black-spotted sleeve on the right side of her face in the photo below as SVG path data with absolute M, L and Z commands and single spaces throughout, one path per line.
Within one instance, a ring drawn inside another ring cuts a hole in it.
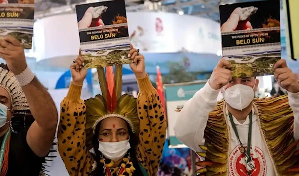
M 140 119 L 138 161 L 149 176 L 156 176 L 165 142 L 166 118 L 158 93 L 151 85 L 149 76 L 137 79 L 137 82 L 140 90 L 137 98 Z

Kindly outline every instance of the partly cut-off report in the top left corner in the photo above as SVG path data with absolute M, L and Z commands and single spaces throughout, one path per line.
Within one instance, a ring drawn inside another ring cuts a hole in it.
M 0 36 L 13 36 L 31 49 L 33 24 L 34 0 L 0 0 Z

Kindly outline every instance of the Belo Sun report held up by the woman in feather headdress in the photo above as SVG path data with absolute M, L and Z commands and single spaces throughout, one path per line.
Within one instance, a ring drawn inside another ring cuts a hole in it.
M 132 63 L 125 0 L 76 5 L 85 68 Z

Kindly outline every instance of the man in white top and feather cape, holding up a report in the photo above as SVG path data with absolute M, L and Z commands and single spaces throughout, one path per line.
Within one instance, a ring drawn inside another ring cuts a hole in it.
M 298 161 L 290 146 L 299 139 L 299 81 L 286 60 L 275 64 L 274 77 L 289 96 L 256 99 L 259 80 L 232 79 L 226 68 L 229 61 L 221 59 L 206 85 L 181 109 L 174 127 L 176 137 L 205 158 L 197 163 L 204 167 L 197 173 L 299 174 L 289 169 Z M 225 100 L 217 103 L 220 91 Z

